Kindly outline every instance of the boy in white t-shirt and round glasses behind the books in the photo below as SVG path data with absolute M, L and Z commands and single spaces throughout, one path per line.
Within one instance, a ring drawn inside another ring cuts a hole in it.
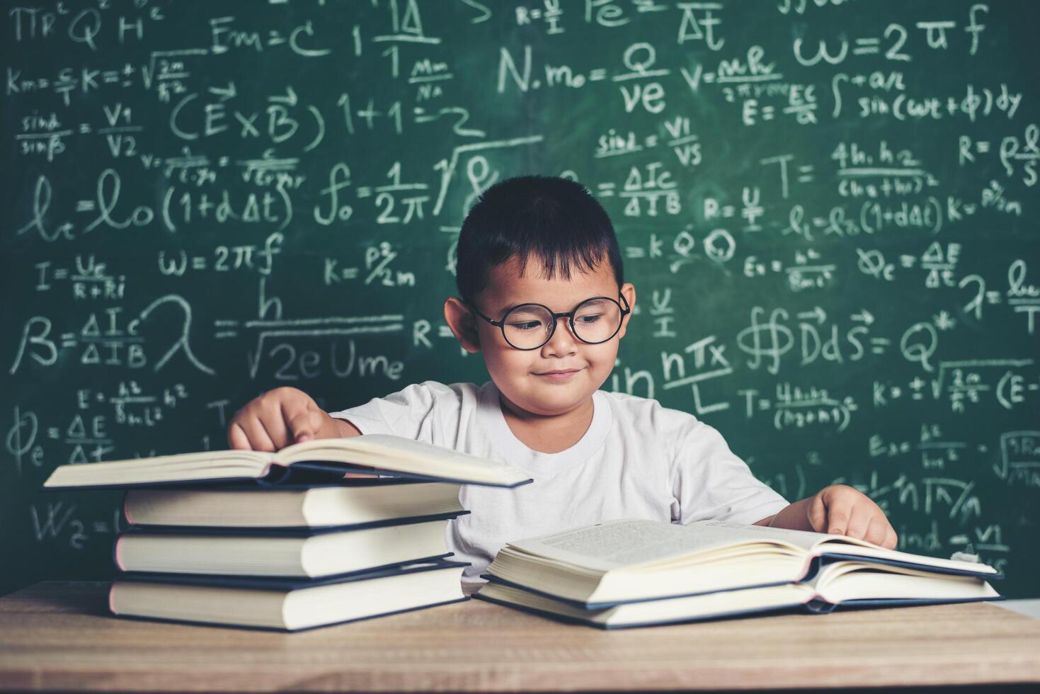
M 885 514 L 855 489 L 787 504 L 693 415 L 599 390 L 635 288 L 623 282 L 606 212 L 580 184 L 527 176 L 486 190 L 463 223 L 456 281 L 460 298 L 444 302 L 444 317 L 463 349 L 484 356 L 491 381 L 426 381 L 332 414 L 279 388 L 235 415 L 231 446 L 388 433 L 525 469 L 534 484 L 463 486 L 472 514 L 450 523 L 448 542 L 472 563 L 466 581 L 509 540 L 621 517 L 720 518 L 895 546 Z

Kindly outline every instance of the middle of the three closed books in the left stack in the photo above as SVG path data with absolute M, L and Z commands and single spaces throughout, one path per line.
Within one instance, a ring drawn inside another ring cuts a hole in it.
M 320 530 L 131 528 L 115 541 L 115 565 L 159 573 L 330 576 L 446 556 L 447 524 L 458 515 Z

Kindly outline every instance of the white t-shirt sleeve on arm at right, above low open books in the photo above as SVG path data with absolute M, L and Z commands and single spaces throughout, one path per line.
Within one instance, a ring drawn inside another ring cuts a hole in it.
M 695 520 L 754 523 L 787 506 L 703 421 L 695 421 L 679 438 L 672 489 L 672 520 L 683 525 Z

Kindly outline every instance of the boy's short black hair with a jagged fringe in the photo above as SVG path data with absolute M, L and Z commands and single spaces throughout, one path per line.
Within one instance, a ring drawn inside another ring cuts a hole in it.
M 513 256 L 520 272 L 531 255 L 546 277 L 592 272 L 610 263 L 620 287 L 621 250 L 606 210 L 577 181 L 555 176 L 517 176 L 492 185 L 477 198 L 462 223 L 456 286 L 472 302 L 488 284 L 489 272 Z

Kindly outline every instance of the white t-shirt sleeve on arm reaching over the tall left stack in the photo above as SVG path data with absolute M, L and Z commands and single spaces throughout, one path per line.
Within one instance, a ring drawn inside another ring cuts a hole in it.
M 424 381 L 385 397 L 373 397 L 364 405 L 329 414 L 346 419 L 362 434 L 393 434 L 425 443 L 440 443 L 444 434 L 448 433 L 445 428 L 451 423 L 450 418 L 443 416 L 445 408 L 442 401 L 445 397 L 457 400 L 448 386 Z M 454 418 L 454 428 L 458 428 L 458 417 Z

